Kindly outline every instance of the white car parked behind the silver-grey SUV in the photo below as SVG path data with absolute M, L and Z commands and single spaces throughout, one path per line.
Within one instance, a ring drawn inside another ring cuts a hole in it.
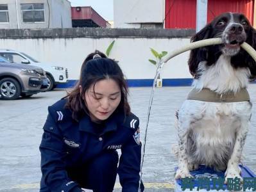
M 47 76 L 47 91 L 53 90 L 57 84 L 67 83 L 67 68 L 59 67 L 51 63 L 41 63 L 24 52 L 10 49 L 0 49 L 0 56 L 3 56 L 11 63 L 31 64 L 44 69 Z

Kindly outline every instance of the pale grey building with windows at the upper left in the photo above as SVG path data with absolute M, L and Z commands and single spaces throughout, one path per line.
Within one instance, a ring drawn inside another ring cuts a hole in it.
M 0 0 L 0 29 L 72 28 L 67 0 Z

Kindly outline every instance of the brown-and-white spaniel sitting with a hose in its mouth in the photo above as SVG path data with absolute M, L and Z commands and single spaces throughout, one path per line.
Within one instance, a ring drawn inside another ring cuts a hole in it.
M 243 14 L 223 13 L 191 38 L 191 42 L 220 37 L 221 45 L 194 49 L 189 70 L 194 91 L 208 90 L 221 98 L 246 91 L 256 76 L 256 63 L 240 45 L 255 45 L 255 29 Z M 192 177 L 189 171 L 205 164 L 226 170 L 225 180 L 240 176 L 242 150 L 252 114 L 250 98 L 235 102 L 187 99 L 176 113 L 178 170 L 175 179 Z

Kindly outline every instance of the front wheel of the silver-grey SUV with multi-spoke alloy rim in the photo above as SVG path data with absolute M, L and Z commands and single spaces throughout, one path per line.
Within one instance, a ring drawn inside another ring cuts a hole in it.
M 21 95 L 21 86 L 13 78 L 4 78 L 0 81 L 0 95 L 5 100 L 17 99 Z

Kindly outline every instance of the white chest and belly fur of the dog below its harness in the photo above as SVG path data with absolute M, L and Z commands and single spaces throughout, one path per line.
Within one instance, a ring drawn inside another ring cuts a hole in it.
M 180 126 L 186 126 L 187 147 L 192 162 L 224 170 L 234 148 L 235 132 L 248 124 L 250 102 L 203 102 L 186 100 L 179 111 Z

